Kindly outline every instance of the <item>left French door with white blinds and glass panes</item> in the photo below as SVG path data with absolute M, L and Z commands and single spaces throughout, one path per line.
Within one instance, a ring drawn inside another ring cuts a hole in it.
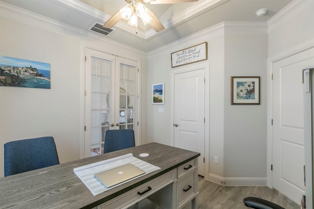
M 86 49 L 85 157 L 104 152 L 105 131 L 115 120 L 114 61 L 111 54 Z

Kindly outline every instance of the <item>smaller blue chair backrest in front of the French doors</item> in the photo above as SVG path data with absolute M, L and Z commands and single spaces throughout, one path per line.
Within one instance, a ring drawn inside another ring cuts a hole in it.
M 132 129 L 107 130 L 105 134 L 104 153 L 135 147 Z

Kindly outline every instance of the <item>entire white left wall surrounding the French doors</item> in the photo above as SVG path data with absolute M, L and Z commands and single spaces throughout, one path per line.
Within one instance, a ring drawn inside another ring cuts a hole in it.
M 1 11 L 2 12 L 2 11 Z M 3 145 L 8 141 L 53 136 L 60 163 L 83 157 L 85 47 L 138 61 L 141 66 L 141 139 L 146 142 L 147 54 L 98 35 L 27 12 L 3 11 L 0 55 L 51 64 L 51 89 L 0 86 L 0 176 Z M 4 18 L 3 16 L 7 16 Z

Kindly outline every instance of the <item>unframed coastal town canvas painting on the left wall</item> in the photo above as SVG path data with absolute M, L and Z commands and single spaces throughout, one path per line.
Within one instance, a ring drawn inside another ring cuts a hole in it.
M 50 89 L 50 64 L 0 56 L 0 86 Z

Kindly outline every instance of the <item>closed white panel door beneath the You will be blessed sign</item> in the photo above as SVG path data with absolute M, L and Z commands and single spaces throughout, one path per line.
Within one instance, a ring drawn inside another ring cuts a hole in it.
M 174 76 L 174 145 L 201 153 L 199 175 L 205 175 L 205 69 Z

